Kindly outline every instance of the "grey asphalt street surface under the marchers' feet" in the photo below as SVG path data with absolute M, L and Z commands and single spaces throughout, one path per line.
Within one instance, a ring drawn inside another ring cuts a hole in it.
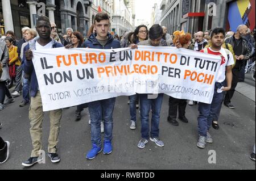
M 254 100 L 243 91 L 236 92 L 232 103 L 236 109 L 230 110 L 223 106 L 220 115 L 220 129 L 210 129 L 213 144 L 207 144 L 205 149 L 199 149 L 197 142 L 197 105 L 187 106 L 186 116 L 189 123 L 179 121 L 175 127 L 167 122 L 168 96 L 164 96 L 160 117 L 160 139 L 164 147 L 160 148 L 149 141 L 144 149 L 137 147 L 141 138 L 141 121 L 137 111 L 137 129 L 129 129 L 129 105 L 127 97 L 117 98 L 114 109 L 113 153 L 100 153 L 92 161 L 85 158 L 91 148 L 90 125 L 88 124 L 88 109 L 82 112 L 82 119 L 75 121 L 76 107 L 63 110 L 59 134 L 59 163 L 51 163 L 46 158 L 45 164 L 23 167 L 22 161 L 30 157 L 32 150 L 28 108 L 19 107 L 22 96 L 0 111 L 0 121 L 3 128 L 0 136 L 10 142 L 10 158 L 0 165 L 2 169 L 35 169 L 35 170 L 170 170 L 170 169 L 255 169 L 255 162 L 249 155 L 255 142 L 255 82 L 244 87 L 253 89 Z M 252 93 L 253 94 L 253 93 Z M 49 133 L 49 115 L 45 113 L 43 122 L 43 150 L 47 151 Z M 102 138 L 103 138 L 102 134 Z M 216 163 L 210 164 L 208 158 L 216 153 Z

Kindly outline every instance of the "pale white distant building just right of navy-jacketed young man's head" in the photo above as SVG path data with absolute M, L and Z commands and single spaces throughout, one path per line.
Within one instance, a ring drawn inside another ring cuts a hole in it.
M 133 31 L 133 12 L 129 6 L 130 2 L 127 0 L 113 0 L 112 2 L 112 31 L 119 36 Z

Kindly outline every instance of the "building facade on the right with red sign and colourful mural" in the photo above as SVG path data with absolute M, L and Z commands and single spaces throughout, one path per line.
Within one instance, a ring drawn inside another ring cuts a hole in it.
M 236 31 L 239 24 L 255 28 L 254 0 L 163 0 L 160 24 L 169 33 L 197 32 L 223 27 Z

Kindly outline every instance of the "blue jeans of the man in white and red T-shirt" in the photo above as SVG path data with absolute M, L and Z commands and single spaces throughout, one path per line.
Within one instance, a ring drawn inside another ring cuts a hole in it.
M 219 87 L 220 88 L 220 87 Z M 214 95 L 211 104 L 199 103 L 199 117 L 198 121 L 198 132 L 201 136 L 207 136 L 213 119 L 215 120 L 218 117 L 218 113 L 222 106 L 222 101 L 224 99 L 224 92 L 218 93 L 218 87 L 214 87 Z

